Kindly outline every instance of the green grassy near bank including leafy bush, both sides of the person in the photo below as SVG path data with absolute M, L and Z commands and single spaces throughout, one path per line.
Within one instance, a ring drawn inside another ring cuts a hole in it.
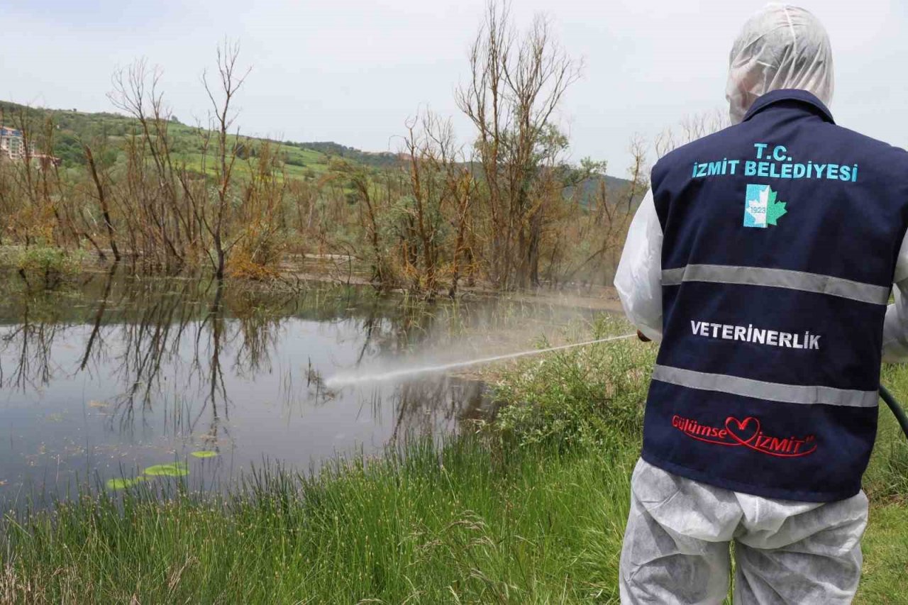
M 7 516 L 0 601 L 615 602 L 654 352 L 521 363 L 498 386 L 515 405 L 440 450 L 413 442 L 314 479 L 272 469 L 218 501 L 142 486 Z M 908 399 L 908 372 L 886 382 Z M 908 602 L 908 441 L 881 419 L 859 602 Z

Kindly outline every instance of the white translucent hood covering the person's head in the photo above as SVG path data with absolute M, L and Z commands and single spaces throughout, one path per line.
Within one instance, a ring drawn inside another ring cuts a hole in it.
M 751 16 L 728 61 L 728 114 L 738 124 L 770 91 L 797 88 L 828 105 L 833 98 L 833 51 L 819 20 L 803 8 L 770 4 Z

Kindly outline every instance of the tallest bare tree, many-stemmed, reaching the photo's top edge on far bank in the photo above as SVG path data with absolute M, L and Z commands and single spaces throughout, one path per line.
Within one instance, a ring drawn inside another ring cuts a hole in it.
M 499 287 L 527 285 L 534 275 L 534 184 L 552 151 L 545 144 L 554 114 L 582 64 L 553 38 L 544 16 L 518 36 L 508 2 L 491 0 L 470 48 L 470 79 L 456 93 L 460 111 L 477 129 L 476 154 L 489 214 L 489 278 Z

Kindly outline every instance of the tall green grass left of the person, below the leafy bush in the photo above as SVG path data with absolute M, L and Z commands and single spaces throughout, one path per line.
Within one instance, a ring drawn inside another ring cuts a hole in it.
M 635 453 L 425 441 L 224 499 L 139 488 L 5 521 L 4 602 L 614 600 Z

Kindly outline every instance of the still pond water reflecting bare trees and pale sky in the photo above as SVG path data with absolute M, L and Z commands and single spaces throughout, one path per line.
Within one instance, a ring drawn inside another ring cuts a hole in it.
M 11 273 L 0 279 L 6 505 L 176 461 L 216 489 L 265 462 L 315 469 L 339 454 L 380 454 L 412 435 L 456 432 L 493 412 L 488 389 L 469 375 L 336 390 L 324 379 L 515 351 L 592 314 L 494 298 L 428 305 L 324 284 L 274 293 L 116 271 L 54 292 Z

